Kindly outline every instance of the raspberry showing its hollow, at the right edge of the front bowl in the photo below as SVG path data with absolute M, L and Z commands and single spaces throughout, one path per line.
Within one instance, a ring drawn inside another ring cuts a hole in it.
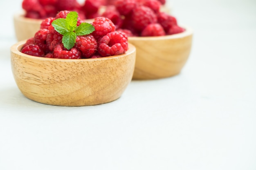
M 124 54 L 127 50 L 126 38 L 117 31 L 108 33 L 99 41 L 98 52 L 103 57 Z

